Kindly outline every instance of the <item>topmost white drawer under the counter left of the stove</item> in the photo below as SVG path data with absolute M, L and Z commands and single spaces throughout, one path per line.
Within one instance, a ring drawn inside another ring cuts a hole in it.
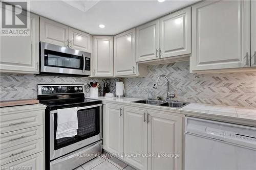
M 0 134 L 42 125 L 44 111 L 15 112 L 0 115 Z

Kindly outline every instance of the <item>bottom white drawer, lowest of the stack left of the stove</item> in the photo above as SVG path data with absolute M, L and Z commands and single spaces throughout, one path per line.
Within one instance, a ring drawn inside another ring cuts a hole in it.
M 14 162 L 0 166 L 0 169 L 44 169 L 44 152 L 30 155 L 28 157 L 16 160 Z

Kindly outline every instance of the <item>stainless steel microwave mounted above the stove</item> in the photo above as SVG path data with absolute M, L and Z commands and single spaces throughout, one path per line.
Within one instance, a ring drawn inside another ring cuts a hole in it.
M 91 75 L 91 53 L 40 42 L 41 75 Z

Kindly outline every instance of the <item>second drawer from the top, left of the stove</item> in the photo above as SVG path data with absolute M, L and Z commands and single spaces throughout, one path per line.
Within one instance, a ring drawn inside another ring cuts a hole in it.
M 0 150 L 43 137 L 42 125 L 0 134 Z

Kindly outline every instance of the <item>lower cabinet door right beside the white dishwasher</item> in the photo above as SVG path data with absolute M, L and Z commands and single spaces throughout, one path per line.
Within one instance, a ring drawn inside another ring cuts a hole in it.
M 148 112 L 147 152 L 148 169 L 182 168 L 182 117 L 158 112 Z M 158 154 L 174 154 L 165 157 Z M 177 157 L 175 157 L 175 154 Z

